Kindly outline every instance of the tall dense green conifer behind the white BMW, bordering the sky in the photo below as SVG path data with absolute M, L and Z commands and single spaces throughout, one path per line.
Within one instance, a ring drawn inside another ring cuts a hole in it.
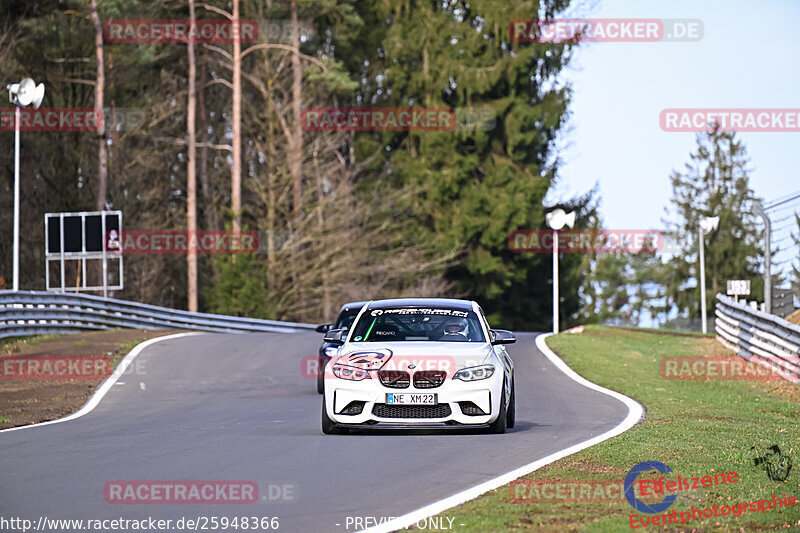
M 549 257 L 512 253 L 507 240 L 514 229 L 546 227 L 542 204 L 558 168 L 553 144 L 570 98 L 557 81 L 571 57 L 568 44 L 511 42 L 509 20 L 530 18 L 540 8 L 553 16 L 568 3 L 380 4 L 389 22 L 376 66 L 382 90 L 369 95 L 375 105 L 467 108 L 492 120 L 475 128 L 373 136 L 389 156 L 372 186 L 415 191 L 397 209 L 398 217 L 412 217 L 420 228 L 406 240 L 432 255 L 455 251 L 446 271 L 455 293 L 479 300 L 492 320 L 509 327 L 549 327 Z M 581 280 L 571 280 L 579 264 L 567 257 L 562 265 L 570 280 L 562 285 L 567 317 L 579 308 Z

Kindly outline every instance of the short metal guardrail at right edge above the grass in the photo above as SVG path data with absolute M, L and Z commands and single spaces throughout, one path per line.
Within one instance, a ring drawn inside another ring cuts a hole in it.
M 748 360 L 800 383 L 800 326 L 717 294 L 717 339 Z

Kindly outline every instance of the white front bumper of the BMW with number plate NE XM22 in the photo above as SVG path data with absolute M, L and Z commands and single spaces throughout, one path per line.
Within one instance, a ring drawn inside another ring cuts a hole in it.
M 502 372 L 471 382 L 448 377 L 439 387 L 421 389 L 413 384 L 402 389 L 390 388 L 375 378 L 350 381 L 328 376 L 325 380 L 325 409 L 328 417 L 341 427 L 483 427 L 497 419 L 503 397 Z M 392 393 L 434 393 L 438 403 L 436 406 L 387 405 L 386 395 Z M 357 414 L 352 414 L 355 411 Z M 478 412 L 485 414 L 467 414 Z

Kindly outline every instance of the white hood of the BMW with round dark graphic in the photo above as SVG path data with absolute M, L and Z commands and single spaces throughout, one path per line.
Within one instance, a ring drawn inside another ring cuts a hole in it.
M 489 343 L 467 342 L 369 342 L 342 347 L 337 362 L 364 370 L 455 370 L 486 362 L 492 353 Z

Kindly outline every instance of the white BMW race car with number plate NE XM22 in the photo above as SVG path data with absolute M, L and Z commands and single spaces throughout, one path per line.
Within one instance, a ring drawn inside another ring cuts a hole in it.
M 375 300 L 325 365 L 322 432 L 348 428 L 514 427 L 514 364 L 505 330 L 489 329 L 477 303 L 440 298 Z

